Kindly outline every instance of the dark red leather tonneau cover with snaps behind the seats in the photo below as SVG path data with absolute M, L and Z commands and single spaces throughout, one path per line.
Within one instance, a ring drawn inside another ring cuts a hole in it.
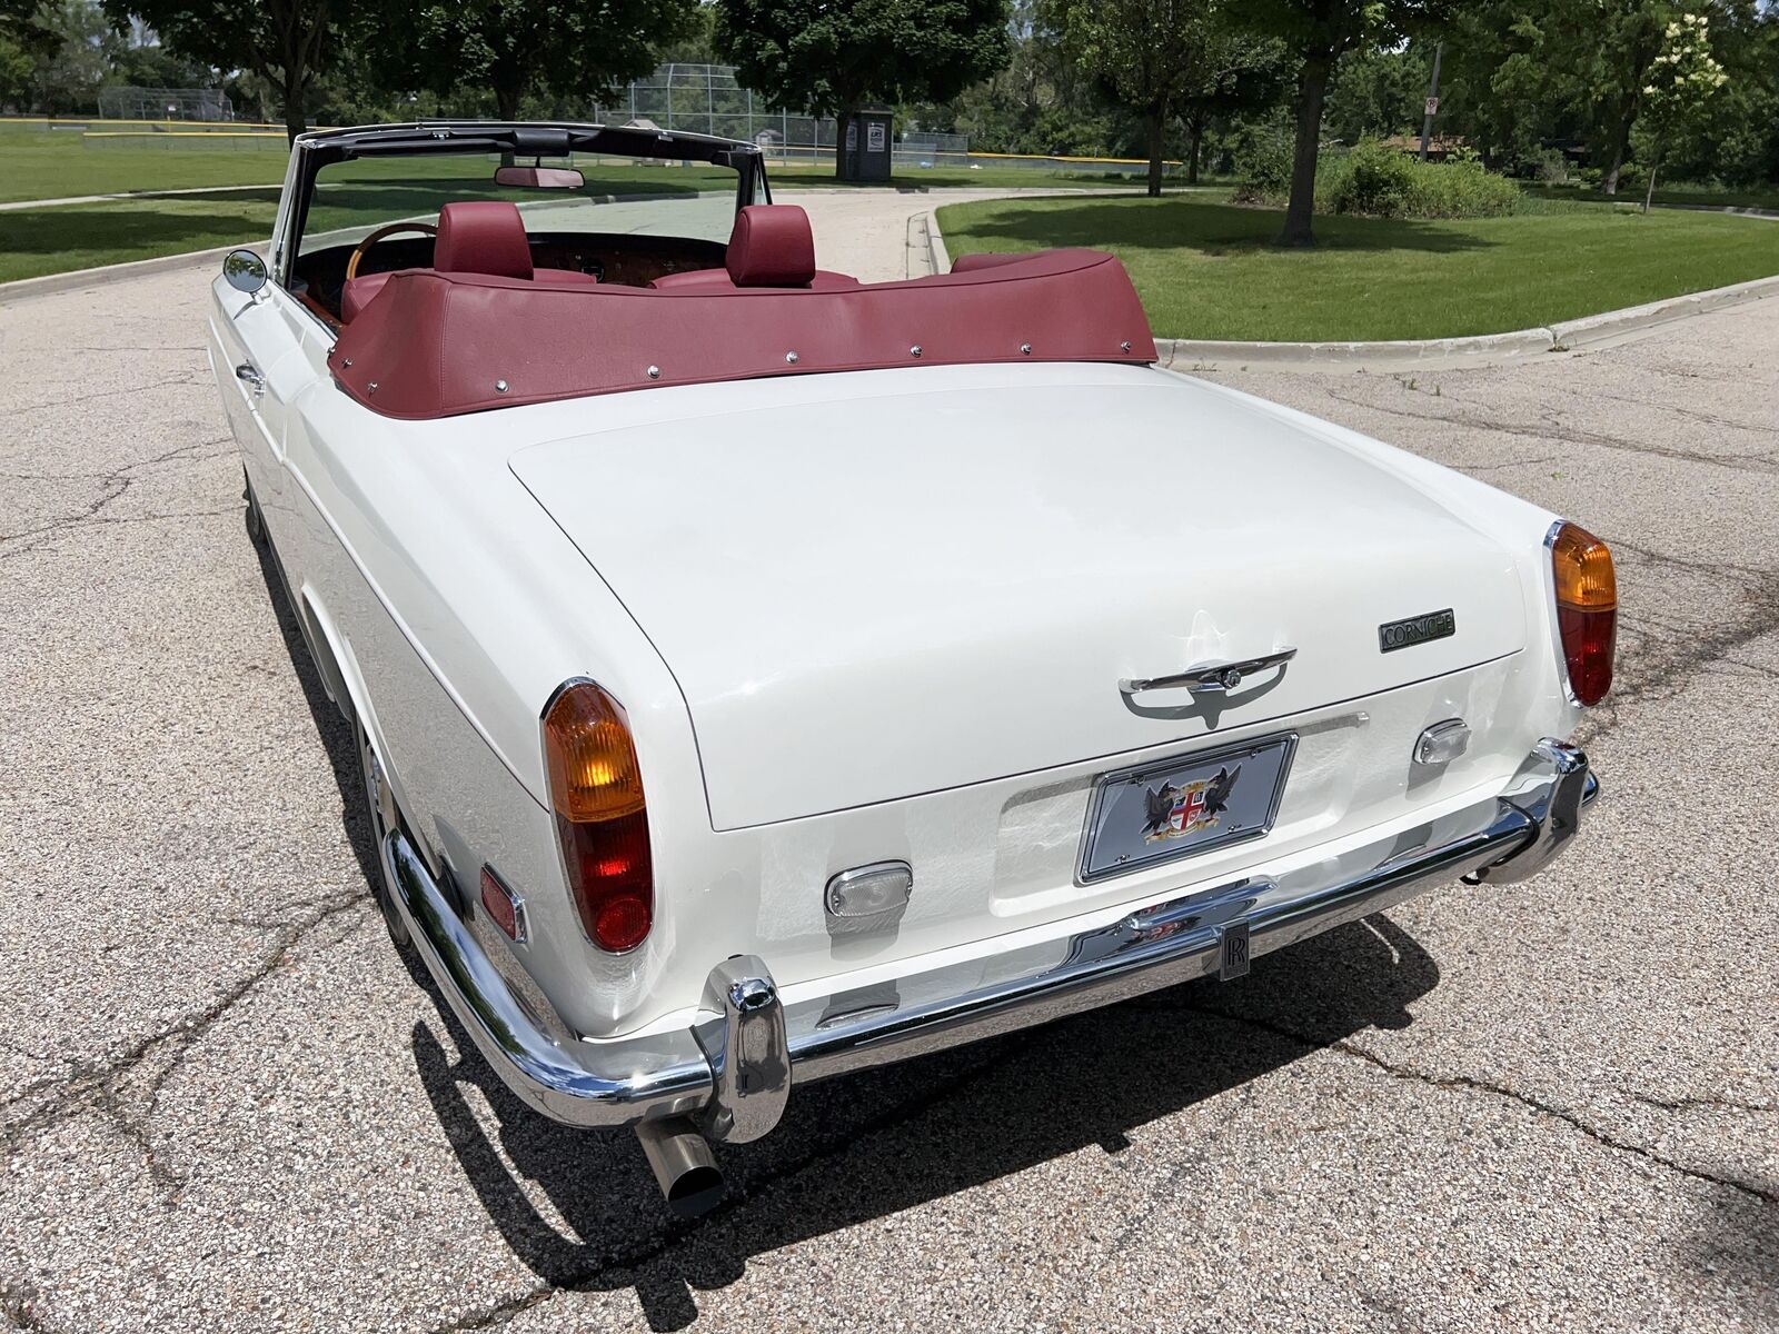
M 327 354 L 361 404 L 420 420 L 669 384 L 1026 359 L 1155 361 L 1124 265 L 1048 251 L 818 292 L 557 288 L 413 270 Z

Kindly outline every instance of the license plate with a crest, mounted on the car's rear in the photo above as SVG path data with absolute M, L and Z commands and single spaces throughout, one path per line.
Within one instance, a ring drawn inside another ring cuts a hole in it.
M 1292 733 L 1105 774 L 1087 811 L 1082 884 L 1263 838 L 1295 751 Z

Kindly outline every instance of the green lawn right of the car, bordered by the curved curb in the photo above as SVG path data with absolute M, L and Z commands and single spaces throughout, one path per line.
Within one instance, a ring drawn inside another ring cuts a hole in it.
M 1548 205 L 1468 222 L 1281 215 L 1194 197 L 946 205 L 952 256 L 1087 245 L 1130 269 L 1158 338 L 1373 340 L 1505 333 L 1779 274 L 1779 224 Z

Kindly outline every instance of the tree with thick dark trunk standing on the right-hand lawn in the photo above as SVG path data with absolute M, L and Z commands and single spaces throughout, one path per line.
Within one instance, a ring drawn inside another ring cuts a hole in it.
M 1244 20 L 1276 36 L 1297 55 L 1297 144 L 1292 155 L 1292 197 L 1284 206 L 1281 245 L 1315 245 L 1316 158 L 1322 151 L 1322 108 L 1340 57 L 1361 43 L 1395 44 L 1407 32 L 1443 21 L 1450 0 L 1247 0 Z

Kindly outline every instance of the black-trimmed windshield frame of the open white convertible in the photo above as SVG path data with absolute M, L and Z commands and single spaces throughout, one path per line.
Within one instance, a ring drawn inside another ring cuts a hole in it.
M 765 158 L 756 144 L 712 135 L 671 133 L 640 126 L 573 125 L 555 121 L 415 121 L 301 135 L 290 155 L 285 206 L 272 238 L 272 277 L 290 288 L 317 174 L 336 162 L 368 157 L 425 157 L 432 153 L 512 153 L 566 157 L 573 153 L 706 162 L 735 171 L 735 210 L 772 203 Z

